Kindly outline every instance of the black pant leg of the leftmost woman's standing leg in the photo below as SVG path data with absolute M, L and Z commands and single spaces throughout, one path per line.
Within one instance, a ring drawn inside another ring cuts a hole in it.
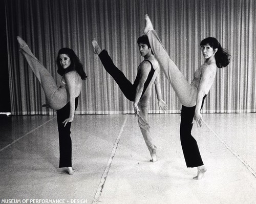
M 75 100 L 75 109 L 77 108 L 78 97 Z M 67 123 L 64 127 L 62 123 L 65 119 L 69 118 L 70 102 L 63 108 L 57 110 L 57 122 L 59 131 L 59 168 L 72 167 L 72 141 L 70 137 L 71 123 Z

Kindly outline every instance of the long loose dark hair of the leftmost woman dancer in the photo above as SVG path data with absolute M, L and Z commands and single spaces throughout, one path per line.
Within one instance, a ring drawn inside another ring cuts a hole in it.
M 61 54 L 66 54 L 70 58 L 71 64 L 67 69 L 63 69 L 63 67 L 60 64 L 59 55 L 61 55 Z M 82 80 L 87 78 L 86 73 L 83 71 L 83 67 L 82 67 L 82 63 L 81 63 L 80 59 L 76 56 L 75 52 L 70 48 L 61 48 L 59 50 L 58 56 L 56 59 L 56 63 L 58 66 L 57 72 L 60 76 L 63 76 L 66 73 L 71 72 L 71 71 L 76 71 L 80 75 Z

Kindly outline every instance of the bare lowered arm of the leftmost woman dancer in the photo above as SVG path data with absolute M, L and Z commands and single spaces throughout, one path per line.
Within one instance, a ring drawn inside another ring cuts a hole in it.
M 69 118 L 67 118 L 62 123 L 66 126 L 67 123 L 71 123 L 74 120 L 75 115 L 75 81 L 76 81 L 76 73 L 68 72 L 65 74 L 65 80 L 67 82 L 68 92 L 69 92 L 69 102 L 70 102 L 70 113 Z

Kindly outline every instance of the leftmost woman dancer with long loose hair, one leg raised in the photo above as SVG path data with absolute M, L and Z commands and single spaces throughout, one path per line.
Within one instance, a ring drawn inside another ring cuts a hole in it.
M 48 70 L 38 61 L 29 49 L 27 43 L 17 37 L 20 52 L 27 59 L 33 73 L 39 80 L 51 108 L 57 110 L 59 131 L 59 168 L 66 167 L 72 175 L 72 142 L 70 137 L 71 122 L 74 119 L 81 92 L 82 80 L 86 79 L 82 64 L 73 50 L 62 48 L 58 52 L 58 74 L 62 76 L 58 87 Z

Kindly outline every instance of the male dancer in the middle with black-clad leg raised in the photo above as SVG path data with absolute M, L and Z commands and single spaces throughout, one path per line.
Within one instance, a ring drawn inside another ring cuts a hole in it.
M 108 52 L 101 50 L 97 41 L 95 39 L 92 40 L 94 53 L 99 56 L 106 72 L 114 78 L 124 96 L 134 102 L 133 106 L 135 114 L 138 116 L 138 124 L 152 157 L 152 160 L 150 161 L 156 162 L 156 146 L 153 144 L 150 125 L 147 122 L 148 103 L 152 94 L 153 83 L 155 84 L 159 107 L 163 110 L 167 110 L 167 105 L 162 100 L 159 83 L 159 64 L 152 54 L 147 36 L 143 35 L 139 37 L 137 43 L 140 54 L 144 57 L 144 60 L 138 66 L 138 73 L 134 83 L 132 84 L 114 65 Z

